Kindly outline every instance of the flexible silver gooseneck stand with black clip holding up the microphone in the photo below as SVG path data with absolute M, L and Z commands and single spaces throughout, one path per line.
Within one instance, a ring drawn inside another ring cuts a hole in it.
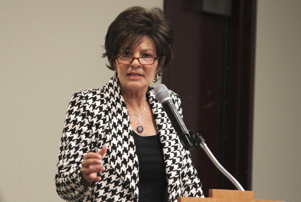
M 214 155 L 209 150 L 207 144 L 205 143 L 205 139 L 198 133 L 191 132 L 191 131 L 188 131 L 188 132 L 190 134 L 190 137 L 191 137 L 194 145 L 191 144 L 191 148 L 189 148 L 187 150 L 190 151 L 192 149 L 195 149 L 196 145 L 200 146 L 204 150 L 204 152 L 207 154 L 207 156 L 210 158 L 212 163 L 214 163 L 214 165 L 219 169 L 219 171 L 222 172 L 222 174 L 224 174 L 224 176 L 226 176 L 235 185 L 235 187 L 238 190 L 245 191 L 245 189 L 242 188 L 242 186 L 239 184 L 239 182 L 218 162 L 218 160 L 216 160 Z

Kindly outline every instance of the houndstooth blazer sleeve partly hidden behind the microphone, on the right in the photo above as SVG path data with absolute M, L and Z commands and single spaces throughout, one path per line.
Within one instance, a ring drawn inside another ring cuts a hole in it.
M 175 106 L 183 118 L 182 104 L 179 96 L 175 94 Z M 198 173 L 192 165 L 190 152 L 180 145 L 183 159 L 183 168 L 181 171 L 181 194 L 184 197 L 204 197 L 202 183 L 198 178 Z

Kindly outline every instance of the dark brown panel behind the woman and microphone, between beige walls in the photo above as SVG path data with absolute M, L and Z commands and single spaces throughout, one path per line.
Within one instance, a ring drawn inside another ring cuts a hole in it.
M 256 1 L 232 1 L 232 16 L 226 17 L 194 11 L 192 1 L 164 1 L 175 41 L 174 59 L 164 71 L 163 83 L 181 97 L 187 128 L 205 138 L 214 156 L 247 190 L 251 189 L 254 8 Z M 235 189 L 203 150 L 191 154 L 205 196 L 209 189 Z

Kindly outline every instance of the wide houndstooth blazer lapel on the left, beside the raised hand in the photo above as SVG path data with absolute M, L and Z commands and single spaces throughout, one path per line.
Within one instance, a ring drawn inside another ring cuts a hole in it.
M 138 200 L 138 158 L 128 110 L 118 81 L 112 78 L 106 86 L 108 105 L 108 161 Z

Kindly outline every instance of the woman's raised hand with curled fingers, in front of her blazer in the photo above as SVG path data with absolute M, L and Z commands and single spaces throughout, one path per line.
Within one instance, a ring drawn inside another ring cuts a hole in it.
M 89 152 L 83 157 L 82 161 L 82 185 L 87 188 L 91 182 L 101 180 L 97 173 L 104 171 L 101 166 L 102 158 L 107 152 L 107 147 L 103 146 L 98 153 Z

